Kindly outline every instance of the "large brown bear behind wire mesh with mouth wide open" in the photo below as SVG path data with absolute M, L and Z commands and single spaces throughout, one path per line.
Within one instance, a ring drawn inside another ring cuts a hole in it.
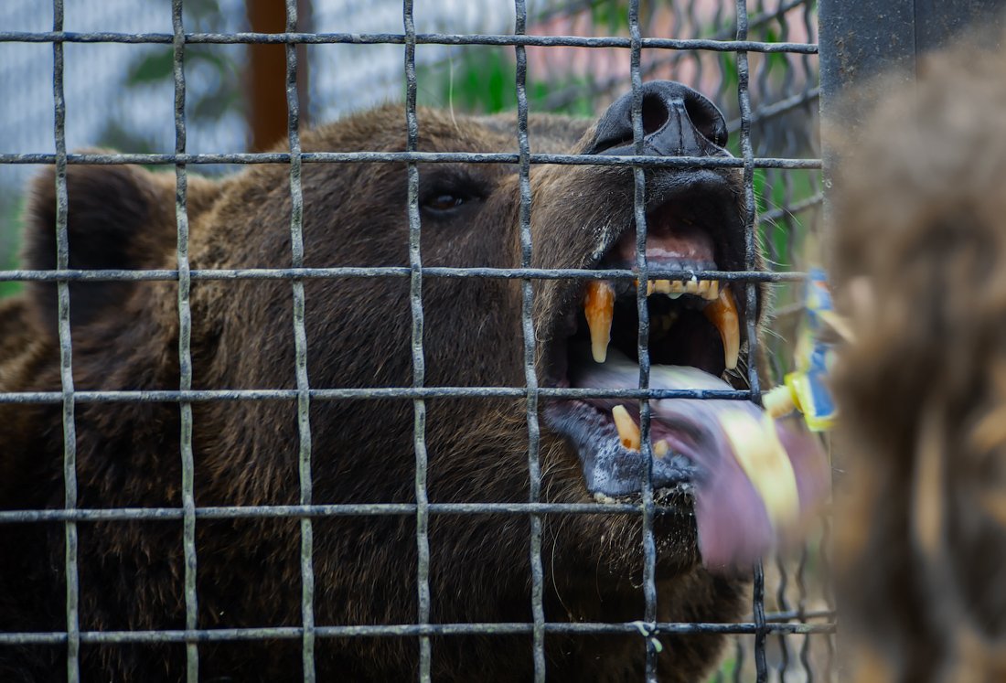
M 627 96 L 593 126 L 531 116 L 531 148 L 630 154 L 630 112 Z M 697 93 L 670 81 L 646 83 L 642 113 L 646 154 L 728 156 L 723 119 Z M 423 109 L 418 131 L 421 151 L 516 150 L 512 115 L 454 117 Z M 306 133 L 303 149 L 401 151 L 404 141 L 402 110 L 387 106 Z M 186 209 L 192 269 L 288 268 L 289 177 L 285 164 L 257 165 L 220 181 L 190 177 Z M 418 177 L 424 267 L 520 266 L 516 165 L 424 163 Z M 741 377 L 736 368 L 743 368 L 746 357 L 745 331 L 738 325 L 745 300 L 730 294 L 731 286 L 738 291 L 741 286 L 699 282 L 686 274 L 744 267 L 739 170 L 650 168 L 645 178 L 650 268 L 662 269 L 665 278 L 678 274 L 675 282 L 650 283 L 651 385 L 713 393 L 729 389 L 719 377 Z M 408 266 L 403 163 L 305 163 L 302 181 L 306 267 Z M 70 268 L 175 268 L 173 174 L 70 165 L 66 183 Z M 29 269 L 55 265 L 54 186 L 51 171 L 33 186 L 25 235 Z M 533 267 L 633 268 L 631 168 L 536 164 L 530 186 Z M 625 278 L 590 288 L 572 278 L 534 281 L 541 386 L 638 386 L 636 288 Z M 304 289 L 312 387 L 411 385 L 407 277 L 309 278 Z M 610 297 L 607 304 L 594 305 L 608 315 L 607 329 L 580 314 L 585 290 L 602 300 Z M 426 385 L 524 386 L 521 297 L 519 280 L 426 277 Z M 75 390 L 179 387 L 176 282 L 73 283 L 69 299 Z M 193 388 L 296 388 L 289 282 L 196 279 L 190 300 Z M 40 282 L 0 307 L 0 390 L 60 388 L 56 310 L 55 286 Z M 606 332 L 610 344 L 607 337 L 602 340 Z M 607 363 L 597 355 L 590 358 L 595 347 L 602 356 L 607 352 Z M 737 383 L 742 385 L 742 379 Z M 621 414 L 617 421 L 610 399 L 542 397 L 542 501 L 640 499 L 648 465 L 638 443 L 639 406 L 635 400 L 623 402 L 621 410 L 614 410 Z M 761 423 L 761 412 L 752 403 L 727 399 L 668 398 L 653 405 L 657 457 L 652 482 L 661 502 L 654 523 L 658 621 L 729 621 L 744 608 L 745 583 L 722 569 L 765 551 L 773 542 L 776 518 L 735 462 L 735 452 L 743 449 L 717 415 L 732 410 L 729 414 L 741 414 L 748 426 Z M 432 397 L 426 409 L 431 503 L 528 500 L 525 399 Z M 196 400 L 191 410 L 194 496 L 200 508 L 299 503 L 296 396 Z M 0 404 L 4 509 L 62 508 L 61 411 L 60 404 Z M 181 506 L 177 402 L 79 401 L 74 424 L 79 508 Z M 312 400 L 313 502 L 413 503 L 414 426 L 409 398 Z M 781 462 L 789 468 L 786 481 L 798 482 L 803 505 L 806 482 L 820 479 L 819 472 L 797 457 L 803 448 L 799 438 L 771 432 L 766 439 L 778 443 L 778 436 L 793 456 L 792 464 Z M 640 515 L 570 513 L 542 519 L 548 622 L 627 624 L 643 617 Z M 182 527 L 177 517 L 78 523 L 81 631 L 184 629 Z M 198 628 L 302 624 L 297 517 L 203 516 L 195 529 Z M 526 514 L 432 514 L 431 621 L 529 623 L 529 529 Z M 701 548 L 697 537 L 704 539 Z M 319 515 L 313 519 L 313 538 L 319 627 L 415 623 L 414 513 Z M 0 553 L 0 630 L 64 631 L 62 523 L 0 524 L 0 547 L 5 548 Z M 722 639 L 661 635 L 661 680 L 699 679 L 715 662 Z M 302 677 L 297 638 L 207 640 L 199 644 L 198 655 L 204 681 Z M 635 631 L 550 633 L 545 655 L 548 680 L 640 680 L 645 645 Z M 57 680 L 64 675 L 65 658 L 61 644 L 2 646 L 0 679 Z M 322 635 L 315 661 L 319 680 L 410 680 L 416 676 L 418 646 L 414 635 Z M 531 635 L 435 635 L 431 662 L 438 681 L 529 680 Z M 86 640 L 79 666 L 86 681 L 177 681 L 184 675 L 185 644 L 156 638 L 127 644 Z

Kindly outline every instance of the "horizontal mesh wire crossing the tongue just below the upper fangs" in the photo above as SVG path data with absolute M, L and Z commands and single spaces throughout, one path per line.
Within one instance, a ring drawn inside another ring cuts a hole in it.
M 547 398 L 725 398 L 749 400 L 746 389 L 612 389 L 580 387 L 541 387 L 539 396 Z M 93 390 L 74 391 L 75 403 L 163 403 L 228 400 L 296 400 L 297 389 L 177 389 L 164 390 Z M 384 398 L 522 398 L 525 386 L 371 386 L 346 389 L 309 389 L 317 400 L 364 400 Z M 61 391 L 0 391 L 2 403 L 59 403 Z

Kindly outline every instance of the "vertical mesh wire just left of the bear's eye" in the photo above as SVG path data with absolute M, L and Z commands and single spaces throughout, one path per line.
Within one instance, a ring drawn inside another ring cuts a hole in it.
M 418 148 L 420 124 L 415 116 L 415 21 L 412 0 L 402 1 L 405 26 L 405 151 Z M 408 301 L 412 312 L 412 386 L 426 381 L 423 352 L 423 259 L 420 253 L 420 169 L 408 162 L 408 266 L 411 270 Z M 430 499 L 427 495 L 427 403 L 412 401 L 415 412 L 415 582 L 418 597 L 416 624 L 430 623 Z M 420 683 L 430 681 L 430 637 L 420 636 Z

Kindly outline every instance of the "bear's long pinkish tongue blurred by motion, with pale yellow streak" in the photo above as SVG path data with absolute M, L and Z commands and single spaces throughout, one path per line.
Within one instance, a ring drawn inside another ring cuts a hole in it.
M 610 359 L 576 384 L 630 387 L 638 380 L 638 365 Z M 654 365 L 650 386 L 732 388 L 697 368 L 673 365 Z M 616 405 L 610 399 L 590 402 L 605 409 Z M 623 405 L 638 419 L 636 401 Z M 650 405 L 654 450 L 679 453 L 701 473 L 693 482 L 695 514 L 699 549 L 709 568 L 748 566 L 797 531 L 826 497 L 826 459 L 818 439 L 798 420 L 773 420 L 743 400 L 668 398 Z M 667 449 L 657 446 L 661 441 Z

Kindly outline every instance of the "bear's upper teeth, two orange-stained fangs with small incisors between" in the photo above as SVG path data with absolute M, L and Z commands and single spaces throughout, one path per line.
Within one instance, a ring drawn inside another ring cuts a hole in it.
M 689 294 L 709 302 L 703 312 L 719 331 L 723 342 L 723 362 L 727 370 L 736 369 L 740 355 L 740 326 L 737 304 L 727 285 L 720 287 L 718 280 L 699 282 L 694 277 L 685 282 L 651 280 L 647 282 L 646 294 L 648 297 L 663 294 L 671 299 Z M 583 296 L 583 315 L 591 329 L 591 354 L 595 362 L 604 363 L 608 358 L 612 320 L 615 317 L 615 288 L 610 282 L 592 280 L 588 283 Z

